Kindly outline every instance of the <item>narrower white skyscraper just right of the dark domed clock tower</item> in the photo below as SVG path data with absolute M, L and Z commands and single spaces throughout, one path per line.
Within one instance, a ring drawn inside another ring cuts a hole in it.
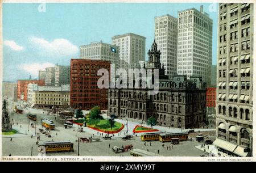
M 161 52 L 160 62 L 172 79 L 177 74 L 177 19 L 171 15 L 155 17 L 155 41 Z

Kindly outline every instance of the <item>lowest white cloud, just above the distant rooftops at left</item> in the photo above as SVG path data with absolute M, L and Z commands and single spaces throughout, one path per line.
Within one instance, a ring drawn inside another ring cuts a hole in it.
M 32 77 L 38 77 L 38 71 L 39 70 L 45 70 L 46 67 L 53 67 L 54 64 L 46 62 L 43 64 L 39 63 L 32 63 L 32 64 L 20 64 L 19 69 L 27 71 L 31 74 Z

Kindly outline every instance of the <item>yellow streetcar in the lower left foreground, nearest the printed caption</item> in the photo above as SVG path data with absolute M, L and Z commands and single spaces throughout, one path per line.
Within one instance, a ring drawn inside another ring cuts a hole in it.
M 73 152 L 74 144 L 70 141 L 47 141 L 38 144 L 38 151 L 41 153 Z

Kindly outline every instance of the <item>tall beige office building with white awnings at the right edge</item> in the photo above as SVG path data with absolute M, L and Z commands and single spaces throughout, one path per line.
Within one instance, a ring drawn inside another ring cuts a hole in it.
M 220 3 L 216 141 L 229 154 L 253 150 L 253 3 Z

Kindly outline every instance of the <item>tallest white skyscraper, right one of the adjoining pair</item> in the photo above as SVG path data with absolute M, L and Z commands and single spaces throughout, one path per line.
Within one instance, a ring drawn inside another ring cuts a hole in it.
M 200 76 L 210 85 L 212 66 L 212 19 L 204 12 L 178 12 L 177 74 Z

